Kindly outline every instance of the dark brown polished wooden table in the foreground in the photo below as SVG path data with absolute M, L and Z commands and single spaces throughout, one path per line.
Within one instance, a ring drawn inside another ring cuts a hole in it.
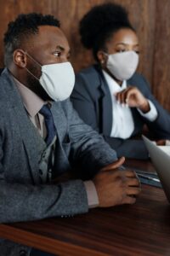
M 149 171 L 148 161 L 128 161 Z M 1 224 L 0 237 L 67 256 L 170 255 L 170 205 L 162 189 L 142 186 L 133 206 L 93 209 L 73 218 Z

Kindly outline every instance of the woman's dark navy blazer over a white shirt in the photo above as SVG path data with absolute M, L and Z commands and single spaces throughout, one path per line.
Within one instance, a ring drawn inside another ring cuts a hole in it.
M 157 139 L 169 139 L 170 115 L 156 102 L 143 76 L 135 73 L 133 77 L 127 81 L 127 86 L 128 85 L 136 86 L 146 98 L 154 103 L 158 112 L 157 119 L 154 122 L 150 122 L 142 117 L 136 108 L 131 108 L 134 131 L 129 139 L 124 140 L 110 137 L 112 125 L 111 93 L 98 65 L 88 67 L 82 70 L 82 72 L 77 73 L 71 101 L 80 117 L 105 137 L 106 142 L 109 143 L 112 148 L 116 149 L 118 156 L 124 155 L 128 158 L 145 159 L 148 158 L 148 153 L 144 143 L 141 140 L 134 139 L 134 137 L 139 136 L 144 124 L 146 124 L 152 135 Z

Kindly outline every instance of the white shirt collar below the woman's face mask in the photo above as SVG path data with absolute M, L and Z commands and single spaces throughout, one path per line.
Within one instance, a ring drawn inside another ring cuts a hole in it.
M 127 81 L 123 80 L 122 81 L 122 86 L 116 83 L 116 81 L 108 74 L 105 72 L 105 70 L 102 69 L 102 72 L 104 74 L 105 80 L 109 87 L 111 88 L 113 93 L 116 93 L 118 91 L 125 90 L 127 88 Z

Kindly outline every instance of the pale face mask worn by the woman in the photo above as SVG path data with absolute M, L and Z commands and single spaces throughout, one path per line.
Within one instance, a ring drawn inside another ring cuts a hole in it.
M 122 53 L 108 55 L 106 67 L 112 75 L 122 81 L 130 79 L 139 64 L 139 55 L 131 50 Z

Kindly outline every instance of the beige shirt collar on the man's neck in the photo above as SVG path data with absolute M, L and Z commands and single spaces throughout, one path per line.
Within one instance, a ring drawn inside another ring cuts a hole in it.
M 31 117 L 34 117 L 42 108 L 42 106 L 44 104 L 47 104 L 47 102 L 44 102 L 42 98 L 37 96 L 37 94 L 34 93 L 32 90 L 28 89 L 26 85 L 21 84 L 18 79 L 14 78 L 14 76 L 12 77 L 14 79 L 14 83 L 17 86 L 17 89 L 20 92 L 20 96 L 22 98 L 22 102 L 26 108 L 26 111 Z

